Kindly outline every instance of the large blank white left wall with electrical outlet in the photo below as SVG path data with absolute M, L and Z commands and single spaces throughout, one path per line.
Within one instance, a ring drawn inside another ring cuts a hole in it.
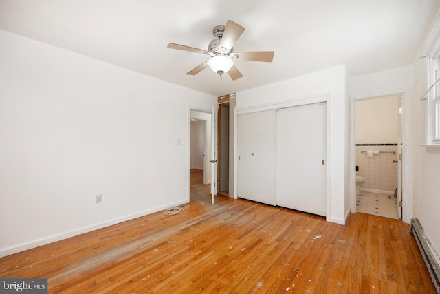
M 188 202 L 189 105 L 216 100 L 0 31 L 0 256 Z

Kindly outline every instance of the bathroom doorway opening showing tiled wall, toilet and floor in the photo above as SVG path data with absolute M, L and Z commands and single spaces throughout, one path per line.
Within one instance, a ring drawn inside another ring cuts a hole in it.
M 401 218 L 401 99 L 355 101 L 356 211 Z

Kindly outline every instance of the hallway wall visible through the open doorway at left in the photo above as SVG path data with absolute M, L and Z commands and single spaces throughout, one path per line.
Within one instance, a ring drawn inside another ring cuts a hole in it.
M 191 121 L 190 168 L 203 170 L 203 153 L 205 146 L 204 121 Z

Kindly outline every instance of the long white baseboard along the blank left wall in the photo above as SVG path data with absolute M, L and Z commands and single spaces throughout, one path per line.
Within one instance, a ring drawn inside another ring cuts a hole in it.
M 98 229 L 109 227 L 109 226 L 112 226 L 113 224 L 119 224 L 120 222 L 126 222 L 127 220 L 133 220 L 135 218 L 147 216 L 148 214 L 155 213 L 157 211 L 162 211 L 162 210 L 168 209 L 170 207 L 174 207 L 174 206 L 178 206 L 178 205 L 186 204 L 186 203 L 188 203 L 188 200 L 181 200 L 178 202 L 163 205 L 161 207 L 155 207 L 154 209 L 148 209 L 146 211 L 140 211 L 137 213 L 133 213 L 128 216 L 121 216 L 119 218 L 113 218 L 111 220 L 106 220 L 104 222 L 98 222 L 97 224 L 91 224 L 86 227 L 80 227 L 80 228 L 74 229 L 72 231 L 67 231 L 64 233 L 56 234 L 56 235 L 50 235 L 45 238 L 40 238 L 40 239 L 31 241 L 31 242 L 25 242 L 25 243 L 18 244 L 15 246 L 6 247 L 3 249 L 0 249 L 0 258 L 3 258 L 5 256 L 8 256 L 8 255 L 11 255 L 14 253 L 19 253 L 21 251 L 25 251 L 28 249 L 33 249 L 38 246 L 43 246 L 43 245 L 50 244 L 50 243 L 57 242 L 57 241 L 61 241 L 61 240 L 67 239 L 67 238 L 72 238 L 76 235 L 81 235 L 83 233 L 89 233 L 91 231 L 95 231 Z

